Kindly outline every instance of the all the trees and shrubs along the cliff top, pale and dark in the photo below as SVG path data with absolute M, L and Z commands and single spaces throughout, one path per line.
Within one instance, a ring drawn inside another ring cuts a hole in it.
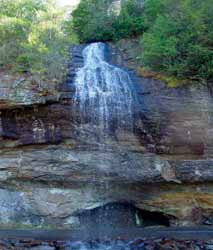
M 142 72 L 213 78 L 212 0 L 81 0 L 67 15 L 54 0 L 0 0 L 0 67 L 61 80 L 68 47 L 141 37 Z M 76 34 L 76 35 L 75 35 Z

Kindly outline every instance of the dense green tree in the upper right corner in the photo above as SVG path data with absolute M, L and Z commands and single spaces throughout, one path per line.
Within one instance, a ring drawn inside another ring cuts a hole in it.
M 142 39 L 144 65 L 182 78 L 212 78 L 212 1 L 160 2 L 161 8 Z

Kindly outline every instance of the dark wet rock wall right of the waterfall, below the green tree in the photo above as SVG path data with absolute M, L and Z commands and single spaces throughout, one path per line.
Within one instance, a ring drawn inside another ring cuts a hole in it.
M 198 83 L 169 88 L 159 80 L 138 77 L 138 43 L 135 39 L 110 44 L 110 61 L 128 68 L 134 79 L 149 147 L 157 154 L 212 157 L 211 88 Z

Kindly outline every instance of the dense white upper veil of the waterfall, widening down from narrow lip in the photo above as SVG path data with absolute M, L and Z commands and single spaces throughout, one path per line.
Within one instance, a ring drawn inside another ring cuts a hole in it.
M 129 74 L 106 61 L 106 45 L 92 43 L 83 50 L 84 66 L 75 78 L 74 103 L 80 123 L 100 136 L 133 131 L 133 93 Z

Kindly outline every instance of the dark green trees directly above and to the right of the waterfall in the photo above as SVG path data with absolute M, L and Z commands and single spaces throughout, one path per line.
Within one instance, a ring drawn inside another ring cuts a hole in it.
M 81 42 L 141 35 L 141 65 L 177 78 L 213 78 L 212 0 L 81 0 L 70 28 Z

